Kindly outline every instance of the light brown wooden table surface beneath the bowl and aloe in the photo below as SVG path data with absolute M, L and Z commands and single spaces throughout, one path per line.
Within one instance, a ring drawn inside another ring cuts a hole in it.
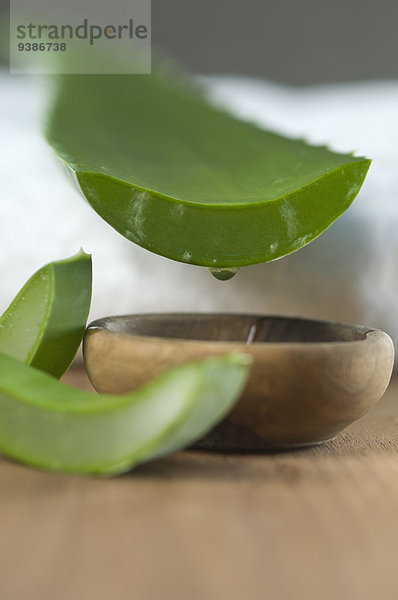
M 0 600 L 397 600 L 398 378 L 323 446 L 109 480 L 4 458 L 0 494 Z

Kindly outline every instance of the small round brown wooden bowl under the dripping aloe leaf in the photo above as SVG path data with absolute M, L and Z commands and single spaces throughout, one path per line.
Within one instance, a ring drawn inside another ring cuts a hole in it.
M 84 336 L 100 392 L 124 393 L 162 371 L 233 351 L 253 357 L 230 415 L 199 445 L 266 450 L 318 444 L 364 415 L 385 392 L 394 348 L 383 331 L 288 317 L 146 314 L 100 319 Z

